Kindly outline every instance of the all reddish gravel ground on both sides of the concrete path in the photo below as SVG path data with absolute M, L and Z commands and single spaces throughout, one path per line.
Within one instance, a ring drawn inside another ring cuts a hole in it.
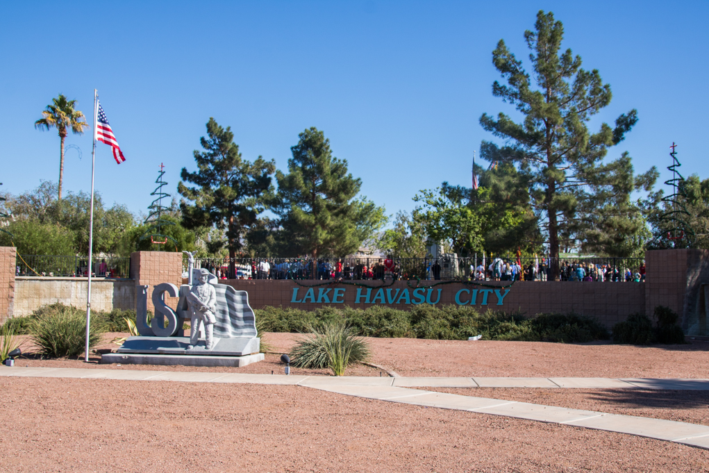
M 116 348 L 108 334 L 99 348 Z M 274 351 L 298 335 L 267 333 Z M 403 376 L 709 377 L 709 343 L 668 347 L 370 338 Z M 26 348 L 29 345 L 26 344 Z M 20 366 L 270 373 L 244 368 Z M 0 368 L 9 369 L 9 368 Z M 328 374 L 325 370 L 296 370 Z M 377 376 L 353 367 L 347 374 Z M 340 396 L 299 386 L 0 378 L 0 471 L 709 472 L 709 451 L 568 425 Z M 709 425 L 707 391 L 437 389 Z

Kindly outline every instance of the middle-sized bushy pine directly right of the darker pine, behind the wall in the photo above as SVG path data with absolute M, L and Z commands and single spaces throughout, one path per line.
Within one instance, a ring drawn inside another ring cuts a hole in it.
M 355 199 L 362 186 L 347 172 L 347 160 L 333 157 L 330 140 L 309 128 L 291 148 L 288 174 L 277 172 L 274 211 L 290 255 L 346 255 L 386 221 L 384 209 Z

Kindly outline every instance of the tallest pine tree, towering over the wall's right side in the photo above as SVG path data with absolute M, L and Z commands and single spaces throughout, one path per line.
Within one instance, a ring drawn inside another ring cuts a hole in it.
M 615 128 L 603 123 L 591 133 L 586 123 L 610 104 L 610 85 L 603 84 L 597 69 L 581 68 L 581 57 L 570 49 L 562 52 L 564 27 L 553 13 L 537 13 L 535 31 L 525 31 L 531 51 L 532 74 L 525 71 L 503 40 L 493 51 L 493 65 L 507 84 L 493 84 L 493 95 L 513 104 L 525 117 L 515 123 L 500 113 L 497 119 L 484 113 L 481 126 L 507 145 L 483 141 L 481 155 L 489 161 L 513 162 L 529 175 L 532 205 L 540 216 L 550 255 L 559 256 L 560 244 L 574 246 L 588 229 L 579 224 L 581 213 L 595 210 L 599 194 L 618 194 L 631 187 L 652 187 L 657 171 L 632 176 L 624 158 L 604 163 L 608 148 L 620 143 L 637 122 L 637 111 L 624 113 Z M 606 199 L 608 201 L 608 199 Z M 611 199 L 612 200 L 612 199 Z M 632 212 L 618 212 L 624 219 Z M 587 224 L 593 223 L 588 219 Z M 568 238 L 571 241 L 562 241 Z M 555 269 L 555 268 L 554 268 Z

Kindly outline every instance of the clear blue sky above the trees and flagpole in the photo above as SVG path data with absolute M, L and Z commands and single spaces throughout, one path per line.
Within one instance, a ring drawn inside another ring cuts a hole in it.
M 503 38 L 527 60 L 523 32 L 540 9 L 613 90 L 593 126 L 639 112 L 609 157 L 627 150 L 636 172 L 656 165 L 664 180 L 674 141 L 683 174 L 709 177 L 707 1 L 37 1 L 0 4 L 0 190 L 57 180 L 59 138 L 33 122 L 60 92 L 91 121 L 96 88 L 127 158 L 116 165 L 97 144 L 96 189 L 109 205 L 145 212 L 161 162 L 177 195 L 213 116 L 246 159 L 279 169 L 316 126 L 362 194 L 410 211 L 420 189 L 470 185 L 473 151 L 491 139 L 481 113 L 513 112 L 491 94 L 491 52 Z M 83 157 L 67 152 L 65 189 L 89 191 L 91 133 L 67 145 Z

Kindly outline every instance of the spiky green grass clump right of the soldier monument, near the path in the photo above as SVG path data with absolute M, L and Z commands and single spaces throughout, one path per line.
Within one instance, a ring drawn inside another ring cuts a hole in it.
M 328 322 L 308 326 L 307 335 L 291 351 L 291 365 L 297 368 L 330 368 L 335 376 L 345 374 L 353 363 L 369 358 L 367 342 L 345 323 Z

